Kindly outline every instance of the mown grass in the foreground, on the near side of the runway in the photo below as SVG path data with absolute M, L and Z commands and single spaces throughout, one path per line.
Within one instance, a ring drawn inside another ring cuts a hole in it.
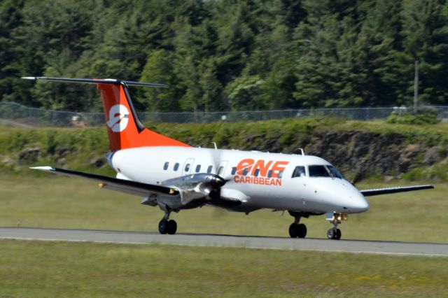
M 448 290 L 447 257 L 3 240 L 0 263 L 2 297 L 434 297 Z

